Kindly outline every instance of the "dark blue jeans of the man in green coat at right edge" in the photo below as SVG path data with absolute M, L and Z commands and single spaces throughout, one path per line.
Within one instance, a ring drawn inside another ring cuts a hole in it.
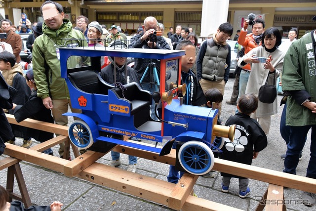
M 296 167 L 299 162 L 300 152 L 303 150 L 306 137 L 310 128 L 312 128 L 311 135 L 311 158 L 307 167 L 306 177 L 316 179 L 316 125 L 290 127 L 289 143 L 287 144 L 287 151 L 284 160 L 283 172 L 296 174 Z

